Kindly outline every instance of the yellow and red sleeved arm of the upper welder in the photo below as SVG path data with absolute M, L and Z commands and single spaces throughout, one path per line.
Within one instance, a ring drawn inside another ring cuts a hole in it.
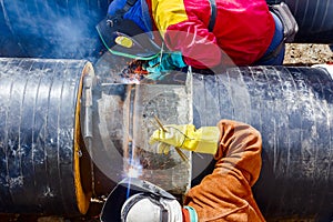
M 184 1 L 151 2 L 153 20 L 167 47 L 171 51 L 180 51 L 188 65 L 206 69 L 225 62 L 225 56 L 218 46 L 215 36 L 195 13 L 185 9 Z

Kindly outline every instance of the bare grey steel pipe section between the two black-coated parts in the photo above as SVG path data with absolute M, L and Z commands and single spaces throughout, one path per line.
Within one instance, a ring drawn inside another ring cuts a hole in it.
M 125 62 L 113 59 L 119 67 Z M 117 75 L 117 67 L 112 68 Z M 112 181 L 104 189 L 109 186 L 110 192 L 123 178 L 140 176 L 175 195 L 185 193 L 191 184 L 191 153 L 183 151 L 186 160 L 173 149 L 160 154 L 157 144 L 149 144 L 149 138 L 158 129 L 154 117 L 164 123 L 191 121 L 188 85 L 114 83 L 110 70 L 98 78 L 89 150 L 92 161 Z

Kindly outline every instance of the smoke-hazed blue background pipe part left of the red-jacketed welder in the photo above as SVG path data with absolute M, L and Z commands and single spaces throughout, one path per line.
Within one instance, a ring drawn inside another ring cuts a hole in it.
M 59 59 L 98 57 L 94 29 L 108 0 L 0 1 L 0 56 Z

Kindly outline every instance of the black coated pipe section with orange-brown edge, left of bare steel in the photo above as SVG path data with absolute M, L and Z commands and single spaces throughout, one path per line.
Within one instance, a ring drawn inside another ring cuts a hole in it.
M 92 72 L 83 60 L 0 59 L 0 212 L 87 212 L 78 94 Z

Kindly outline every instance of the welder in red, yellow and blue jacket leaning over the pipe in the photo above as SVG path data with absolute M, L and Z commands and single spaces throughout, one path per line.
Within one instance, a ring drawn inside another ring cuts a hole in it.
M 150 72 L 282 64 L 278 14 L 265 0 L 113 0 L 97 29 L 111 52 L 150 60 Z

